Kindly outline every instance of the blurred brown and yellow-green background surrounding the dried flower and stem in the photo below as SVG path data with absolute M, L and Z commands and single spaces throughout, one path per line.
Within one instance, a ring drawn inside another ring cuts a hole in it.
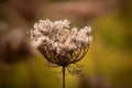
M 62 88 L 51 67 L 29 45 L 40 19 L 92 26 L 94 41 L 66 88 L 132 88 L 132 0 L 0 0 L 0 88 Z

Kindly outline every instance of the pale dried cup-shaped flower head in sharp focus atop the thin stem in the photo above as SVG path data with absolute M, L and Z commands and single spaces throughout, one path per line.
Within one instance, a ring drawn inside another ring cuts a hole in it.
M 68 20 L 52 22 L 40 20 L 30 31 L 31 44 L 52 64 L 67 67 L 79 62 L 88 51 L 92 40 L 91 28 L 69 28 Z

